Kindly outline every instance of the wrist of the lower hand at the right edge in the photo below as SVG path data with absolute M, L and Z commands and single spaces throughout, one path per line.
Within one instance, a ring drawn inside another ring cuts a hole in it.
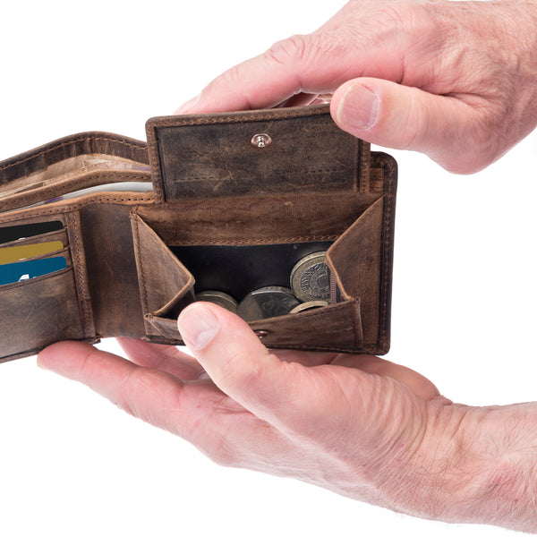
M 537 405 L 434 408 L 413 456 L 412 515 L 537 531 Z

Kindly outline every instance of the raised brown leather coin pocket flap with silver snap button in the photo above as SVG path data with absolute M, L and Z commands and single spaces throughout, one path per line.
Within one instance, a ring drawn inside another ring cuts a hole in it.
M 370 145 L 337 128 L 328 106 L 149 119 L 158 201 L 354 192 Z

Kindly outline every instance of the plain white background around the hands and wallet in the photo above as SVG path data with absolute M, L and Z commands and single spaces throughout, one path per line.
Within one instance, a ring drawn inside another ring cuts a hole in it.
M 150 116 L 173 113 L 277 39 L 316 29 L 344 3 L 331 4 L 3 3 L 0 159 L 88 130 L 144 140 Z M 388 357 L 456 402 L 535 398 L 536 141 L 533 134 L 473 176 L 388 151 L 399 162 Z M 411 532 L 509 533 L 422 521 L 220 468 L 88 388 L 38 370 L 35 358 L 0 365 L 1 535 Z

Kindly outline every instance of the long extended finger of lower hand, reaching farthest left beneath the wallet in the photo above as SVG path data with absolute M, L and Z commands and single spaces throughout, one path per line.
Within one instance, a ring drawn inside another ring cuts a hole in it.
M 50 345 L 38 365 L 78 380 L 127 413 L 191 442 L 221 465 L 263 469 L 286 439 L 207 381 L 185 383 L 81 342 Z

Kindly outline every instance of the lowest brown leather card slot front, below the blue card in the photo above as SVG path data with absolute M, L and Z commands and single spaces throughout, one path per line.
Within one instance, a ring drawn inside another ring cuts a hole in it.
M 65 339 L 83 339 L 72 267 L 0 287 L 0 362 Z

